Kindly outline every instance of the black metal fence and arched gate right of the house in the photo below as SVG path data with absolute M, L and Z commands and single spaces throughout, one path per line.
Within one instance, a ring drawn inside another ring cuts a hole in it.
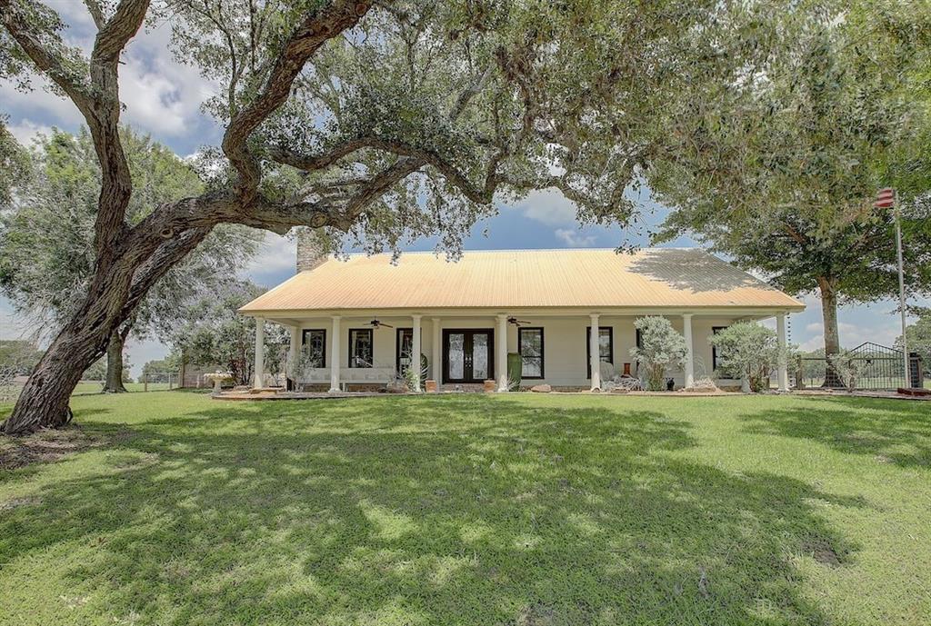
M 911 353 L 911 376 L 906 381 L 902 351 L 881 346 L 872 341 L 861 343 L 845 354 L 857 369 L 857 389 L 895 390 L 899 387 L 921 387 L 924 384 L 924 364 Z M 823 356 L 802 356 L 795 372 L 795 386 L 843 387 L 844 383 Z

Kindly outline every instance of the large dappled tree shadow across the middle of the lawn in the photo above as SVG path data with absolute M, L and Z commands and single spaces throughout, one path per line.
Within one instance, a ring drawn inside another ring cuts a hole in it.
M 820 624 L 796 560 L 857 550 L 813 509 L 857 501 L 677 459 L 648 410 L 275 402 L 111 441 L 0 517 L 0 567 L 50 558 L 74 619 Z

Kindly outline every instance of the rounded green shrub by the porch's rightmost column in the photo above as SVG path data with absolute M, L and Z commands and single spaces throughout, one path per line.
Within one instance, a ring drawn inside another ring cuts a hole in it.
M 788 358 L 776 332 L 756 322 L 737 322 L 708 340 L 718 349 L 723 377 L 747 380 L 754 393 L 769 388 L 770 375 Z

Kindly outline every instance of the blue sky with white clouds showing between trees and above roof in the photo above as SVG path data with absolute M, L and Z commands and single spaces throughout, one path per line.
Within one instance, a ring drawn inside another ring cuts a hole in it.
M 92 42 L 92 24 L 79 2 L 58 5 L 62 17 L 71 25 L 68 38 L 74 45 L 88 49 Z M 162 24 L 148 28 L 130 43 L 120 66 L 121 99 L 126 105 L 123 120 L 185 156 L 202 145 L 216 144 L 221 130 L 200 112 L 200 104 L 216 93 L 218 86 L 201 77 L 196 69 L 177 63 L 168 51 L 169 27 Z M 0 84 L 0 113 L 7 113 L 14 135 L 28 143 L 37 133 L 50 127 L 74 131 L 81 124 L 80 114 L 67 100 L 43 88 L 35 79 L 34 89 L 22 93 L 11 85 Z M 466 239 L 466 249 L 519 249 L 558 247 L 615 247 L 621 243 L 645 244 L 647 231 L 659 223 L 668 209 L 655 204 L 648 192 L 636 196 L 644 207 L 641 226 L 622 232 L 618 228 L 579 228 L 572 203 L 560 193 L 533 193 L 515 205 L 498 205 L 498 215 L 479 223 Z M 890 242 L 893 245 L 893 242 Z M 689 239 L 670 242 L 668 246 L 695 246 Z M 418 242 L 411 250 L 430 250 L 433 243 Z M 274 286 L 294 273 L 294 246 L 285 238 L 269 233 L 262 253 L 243 274 L 265 286 Z M 821 345 L 823 327 L 819 302 L 803 296 L 804 313 L 791 316 L 790 339 L 804 349 Z M 926 301 L 925 301 L 926 303 Z M 884 300 L 869 305 L 843 307 L 840 313 L 841 340 L 853 347 L 871 340 L 891 345 L 899 334 L 896 303 Z M 9 301 L 0 298 L 0 338 L 14 339 L 29 331 L 26 320 L 17 316 Z M 156 341 L 130 341 L 132 372 L 138 375 L 142 364 L 167 353 Z

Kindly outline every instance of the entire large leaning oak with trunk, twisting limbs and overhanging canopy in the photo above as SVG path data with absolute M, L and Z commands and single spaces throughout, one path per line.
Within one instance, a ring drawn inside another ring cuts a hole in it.
M 369 250 L 432 234 L 454 255 L 492 200 L 556 188 L 585 222 L 627 223 L 628 184 L 668 151 L 669 107 L 762 62 L 797 3 L 766 0 L 86 2 L 89 58 L 32 0 L 0 0 L 0 71 L 43 73 L 101 165 L 93 277 L 25 385 L 7 433 L 70 419 L 81 370 L 218 224 L 309 226 Z M 222 84 L 205 193 L 126 220 L 119 63 L 146 16 Z M 790 34 L 790 33 L 789 33 Z M 761 42 L 763 45 L 761 45 Z

